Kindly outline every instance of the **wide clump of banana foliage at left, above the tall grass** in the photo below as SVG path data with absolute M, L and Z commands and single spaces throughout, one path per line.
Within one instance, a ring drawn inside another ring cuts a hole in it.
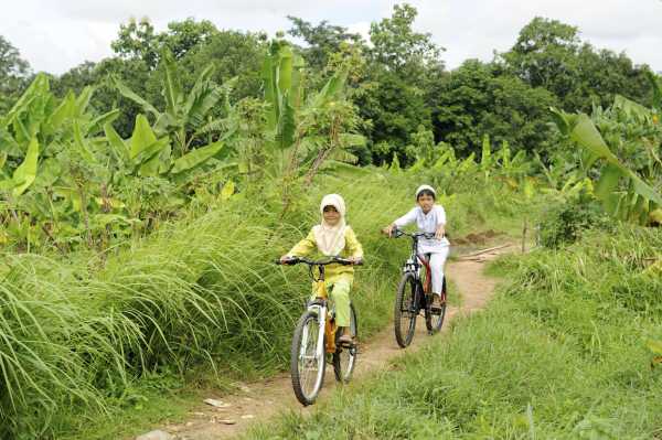
M 89 110 L 93 94 L 86 87 L 79 96 L 57 99 L 47 77 L 38 75 L 2 119 L 9 148 L 0 184 L 7 200 L 0 235 L 12 246 L 65 251 L 83 239 L 103 247 L 149 230 L 182 203 L 189 182 L 221 151 L 218 142 L 186 154 L 172 151 L 169 137 L 158 137 L 142 115 L 125 141 L 111 126 L 117 110 Z M 154 197 L 151 203 L 143 191 Z

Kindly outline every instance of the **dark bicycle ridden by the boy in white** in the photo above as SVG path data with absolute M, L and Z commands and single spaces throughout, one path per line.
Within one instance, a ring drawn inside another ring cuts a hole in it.
M 441 330 L 446 316 L 446 277 L 441 286 L 440 305 L 433 307 L 431 273 L 428 259 L 418 254 L 418 240 L 423 238 L 435 238 L 433 233 L 406 233 L 395 229 L 394 238 L 402 236 L 412 238 L 412 255 L 403 265 L 403 277 L 397 287 L 397 296 L 394 309 L 395 340 L 405 348 L 412 343 L 416 331 L 416 318 L 424 311 L 425 324 L 428 334 L 435 334 Z M 421 267 L 425 271 L 421 273 Z

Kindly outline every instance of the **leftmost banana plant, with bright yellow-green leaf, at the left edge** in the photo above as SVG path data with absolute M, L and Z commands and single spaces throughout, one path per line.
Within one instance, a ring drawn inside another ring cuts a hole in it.
M 70 92 L 57 99 L 49 78 L 40 74 L 0 118 L 0 192 L 8 210 L 2 223 L 14 242 L 31 244 L 44 233 L 52 236 L 66 222 L 54 193 L 57 182 L 71 176 L 63 170 L 63 154 L 76 149 L 89 158 L 88 138 L 118 116 L 118 110 L 90 112 L 94 88 L 86 87 L 78 96 Z

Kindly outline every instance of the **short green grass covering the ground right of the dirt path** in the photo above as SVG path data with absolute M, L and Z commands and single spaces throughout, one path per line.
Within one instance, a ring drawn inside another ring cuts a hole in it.
M 345 389 L 312 417 L 290 414 L 249 438 L 651 439 L 662 436 L 662 280 L 645 270 L 662 233 L 589 234 L 511 257 L 490 307 Z

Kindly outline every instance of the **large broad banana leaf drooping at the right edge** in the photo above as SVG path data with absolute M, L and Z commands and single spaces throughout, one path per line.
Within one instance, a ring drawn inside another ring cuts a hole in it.
M 624 98 L 621 98 L 624 99 Z M 627 101 L 630 111 L 642 111 L 640 106 Z M 638 173 L 626 165 L 608 147 L 591 119 L 584 114 L 567 114 L 552 109 L 562 133 L 585 150 L 585 165 L 600 165 L 595 180 L 595 195 L 605 210 L 617 218 L 645 224 L 649 216 L 662 206 L 662 195 Z

